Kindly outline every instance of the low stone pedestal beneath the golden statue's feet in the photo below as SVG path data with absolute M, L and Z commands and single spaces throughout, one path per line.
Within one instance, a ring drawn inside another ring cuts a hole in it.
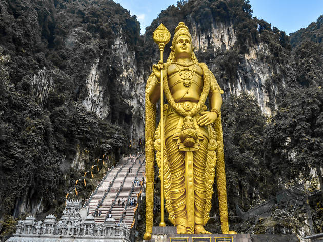
M 251 242 L 250 234 L 176 234 L 175 226 L 154 226 L 151 242 Z

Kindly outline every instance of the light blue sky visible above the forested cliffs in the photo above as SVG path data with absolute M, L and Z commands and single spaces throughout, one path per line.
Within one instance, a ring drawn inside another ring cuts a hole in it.
M 141 33 L 161 10 L 177 5 L 177 0 L 114 0 L 136 15 Z M 287 34 L 307 27 L 323 14 L 323 0 L 250 0 L 253 16 L 264 19 Z

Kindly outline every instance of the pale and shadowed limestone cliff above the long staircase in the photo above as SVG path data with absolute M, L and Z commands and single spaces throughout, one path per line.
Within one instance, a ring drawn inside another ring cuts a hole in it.
M 114 41 L 112 53 L 118 62 L 118 74 L 111 79 L 105 67 L 99 65 L 106 56 L 96 58 L 86 79 L 87 95 L 82 103 L 100 118 L 128 125 L 132 146 L 136 148 L 144 137 L 146 75 L 138 69 L 135 51 L 129 49 L 121 33 Z

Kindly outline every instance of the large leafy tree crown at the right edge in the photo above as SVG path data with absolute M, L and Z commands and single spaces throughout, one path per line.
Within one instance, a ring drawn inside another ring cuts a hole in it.
M 323 160 L 323 90 L 291 90 L 266 129 L 265 157 L 282 181 L 311 178 L 316 169 L 321 189 Z M 322 192 L 323 197 L 323 192 Z

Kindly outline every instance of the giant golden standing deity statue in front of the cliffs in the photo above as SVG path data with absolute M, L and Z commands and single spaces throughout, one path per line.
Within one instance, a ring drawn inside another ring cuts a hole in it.
M 158 28 L 160 27 L 160 36 L 165 37 L 168 30 L 162 24 Z M 164 41 L 164 44 L 167 42 Z M 159 44 L 161 54 L 164 44 Z M 178 234 L 209 233 L 203 226 L 210 218 L 216 172 L 222 233 L 235 233 L 229 231 L 228 225 L 220 112 L 223 91 L 207 65 L 198 62 L 194 54 L 192 36 L 183 22 L 180 22 L 175 29 L 167 62 L 163 63 L 162 59 L 163 57 L 158 64 L 153 65 L 153 72 L 146 85 L 144 239 L 150 239 L 152 233 L 155 152 L 161 178 L 160 226 L 165 226 L 163 215 L 163 197 L 165 197 L 168 219 L 176 226 Z M 160 82 L 168 104 L 163 105 L 163 118 L 160 120 L 163 127 L 159 123 L 156 129 L 156 103 L 163 97 Z M 208 96 L 210 111 L 205 105 Z M 163 152 L 161 147 L 164 148 Z M 163 169 L 160 169 L 161 164 Z

